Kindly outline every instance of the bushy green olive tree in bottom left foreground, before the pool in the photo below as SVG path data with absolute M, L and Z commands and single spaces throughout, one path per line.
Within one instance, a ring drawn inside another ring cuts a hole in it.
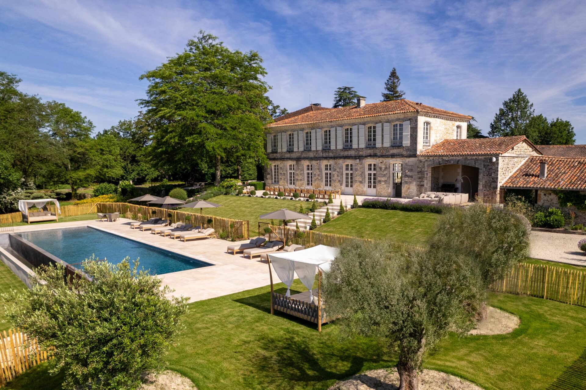
M 162 368 L 187 299 L 168 299 L 169 287 L 128 258 L 90 259 L 83 270 L 89 278 L 67 283 L 63 266 L 36 269 L 32 289 L 5 295 L 6 314 L 52 351 L 63 388 L 136 389 L 144 371 Z

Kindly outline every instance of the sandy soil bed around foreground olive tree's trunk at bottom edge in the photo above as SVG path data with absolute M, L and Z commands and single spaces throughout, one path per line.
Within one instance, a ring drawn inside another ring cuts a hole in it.
M 354 375 L 346 381 L 338 382 L 329 390 L 397 390 L 399 374 L 396 368 L 391 370 L 371 370 Z M 419 374 L 420 390 L 482 390 L 472 382 L 454 375 L 434 370 L 423 370 Z

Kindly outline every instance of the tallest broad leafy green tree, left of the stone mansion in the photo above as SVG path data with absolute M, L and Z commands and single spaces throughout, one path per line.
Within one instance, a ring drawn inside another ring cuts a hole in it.
M 200 32 L 182 53 L 143 74 L 149 86 L 140 103 L 154 126 L 152 161 L 194 176 L 213 165 L 216 184 L 229 153 L 264 161 L 270 117 L 262 63 L 257 52 L 230 50 Z

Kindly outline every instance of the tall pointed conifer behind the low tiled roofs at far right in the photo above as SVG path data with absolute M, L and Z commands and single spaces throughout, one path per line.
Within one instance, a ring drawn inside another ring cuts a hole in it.
M 495 119 L 490 124 L 488 135 L 491 137 L 524 135 L 527 123 L 534 113 L 533 103 L 519 88 L 512 97 L 503 101 L 503 107 L 499 108 L 499 112 L 495 114 Z

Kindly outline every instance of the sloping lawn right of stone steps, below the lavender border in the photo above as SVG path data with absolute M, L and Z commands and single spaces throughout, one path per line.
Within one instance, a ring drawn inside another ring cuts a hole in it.
M 434 230 L 438 216 L 424 212 L 356 208 L 319 226 L 316 231 L 424 245 Z

